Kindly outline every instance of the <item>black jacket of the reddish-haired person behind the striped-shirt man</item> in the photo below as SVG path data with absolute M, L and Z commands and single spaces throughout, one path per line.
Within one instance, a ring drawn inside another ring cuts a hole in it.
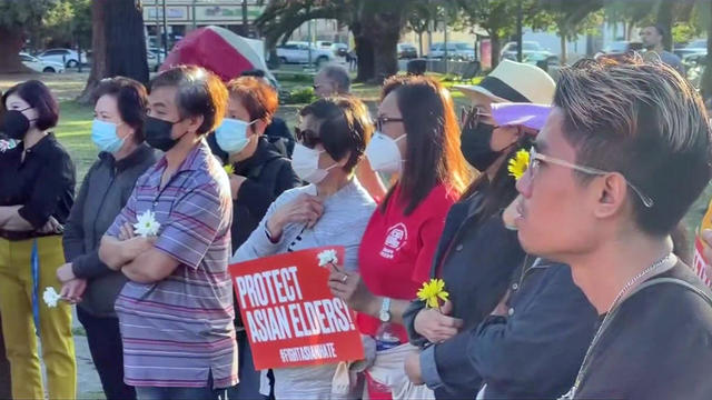
M 228 154 L 215 140 L 208 137 L 210 150 L 222 163 L 228 162 Z M 267 139 L 261 136 L 255 154 L 247 160 L 233 164 L 235 173 L 247 178 L 233 201 L 233 251 L 237 250 L 257 228 L 267 213 L 269 204 L 285 190 L 301 184 L 291 170 L 291 162 L 284 157 Z

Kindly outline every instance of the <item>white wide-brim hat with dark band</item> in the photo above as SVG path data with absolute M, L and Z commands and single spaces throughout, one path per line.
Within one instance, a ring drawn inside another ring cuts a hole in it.
M 543 69 L 511 60 L 502 60 L 479 84 L 455 84 L 471 99 L 493 102 L 533 102 L 550 104 L 556 83 Z

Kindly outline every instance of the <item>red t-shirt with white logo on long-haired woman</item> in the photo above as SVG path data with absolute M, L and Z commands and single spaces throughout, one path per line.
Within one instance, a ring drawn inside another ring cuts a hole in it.
M 377 209 L 370 217 L 358 249 L 358 269 L 374 294 L 413 300 L 431 277 L 445 217 L 458 196 L 438 184 L 409 216 L 404 216 L 406 204 L 398 201 L 399 189 L 394 189 L 385 212 Z M 363 313 L 356 320 L 364 334 L 375 336 L 380 326 L 379 319 Z M 407 342 L 405 328 L 396 329 L 400 341 Z

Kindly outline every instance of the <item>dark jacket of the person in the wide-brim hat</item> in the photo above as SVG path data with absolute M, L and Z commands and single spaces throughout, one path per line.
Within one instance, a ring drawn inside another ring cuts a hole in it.
M 492 312 L 524 260 L 516 231 L 504 227 L 501 213 L 481 220 L 478 210 L 485 190 L 453 204 L 431 270 L 433 278 L 445 281 L 453 302 L 451 316 L 464 320 L 463 329 L 476 327 Z M 414 301 L 404 314 L 408 338 L 415 346 L 427 343 L 413 327 L 424 307 L 422 301 Z

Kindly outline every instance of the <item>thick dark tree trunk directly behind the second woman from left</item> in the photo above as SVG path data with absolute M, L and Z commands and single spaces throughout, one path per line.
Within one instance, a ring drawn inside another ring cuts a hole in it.
M 79 102 L 89 103 L 103 78 L 121 76 L 148 84 L 144 16 L 136 0 L 95 0 L 91 21 L 91 73 Z

